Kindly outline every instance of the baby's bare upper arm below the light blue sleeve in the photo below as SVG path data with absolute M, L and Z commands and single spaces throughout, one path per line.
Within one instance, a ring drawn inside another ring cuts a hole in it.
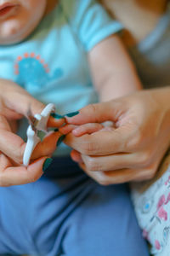
M 94 46 L 88 53 L 88 63 L 100 102 L 142 89 L 133 63 L 116 35 Z

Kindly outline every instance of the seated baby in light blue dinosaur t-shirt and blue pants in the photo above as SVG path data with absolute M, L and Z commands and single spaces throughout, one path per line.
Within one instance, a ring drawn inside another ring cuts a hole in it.
M 121 31 L 94 0 L 0 0 L 1 84 L 54 102 L 56 119 L 139 90 Z M 0 188 L 0 254 L 148 255 L 126 185 L 99 186 L 58 149 L 36 183 Z

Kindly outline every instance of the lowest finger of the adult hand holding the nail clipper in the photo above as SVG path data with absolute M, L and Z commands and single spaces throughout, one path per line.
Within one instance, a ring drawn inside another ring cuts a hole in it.
M 35 182 L 42 176 L 42 170 L 49 164 L 47 157 L 35 160 L 29 166 L 12 166 L 11 162 L 4 155 L 0 155 L 0 186 L 8 187 Z

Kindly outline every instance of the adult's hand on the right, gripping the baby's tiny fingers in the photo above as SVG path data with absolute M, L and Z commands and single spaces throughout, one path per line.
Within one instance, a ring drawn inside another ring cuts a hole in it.
M 67 133 L 74 128 L 65 138 L 65 143 L 74 148 L 72 159 L 90 177 L 105 185 L 154 177 L 170 145 L 169 99 L 170 87 L 167 87 L 142 90 L 82 108 L 79 114 L 67 118 L 70 125 L 60 130 Z M 107 120 L 116 127 L 96 129 L 90 134 L 93 125 L 88 123 Z

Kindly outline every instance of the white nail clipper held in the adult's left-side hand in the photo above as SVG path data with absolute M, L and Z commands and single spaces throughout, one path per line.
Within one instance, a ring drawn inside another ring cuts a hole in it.
M 27 128 L 26 135 L 27 135 L 27 143 L 26 149 L 24 152 L 23 157 L 23 165 L 28 166 L 31 154 L 34 148 L 37 146 L 37 143 L 41 141 L 41 139 L 37 136 L 38 131 L 48 132 L 47 130 L 47 123 L 50 113 L 55 111 L 55 106 L 53 103 L 49 103 L 45 108 L 43 108 L 42 113 L 37 113 L 33 116 L 28 114 L 28 119 L 30 125 Z

